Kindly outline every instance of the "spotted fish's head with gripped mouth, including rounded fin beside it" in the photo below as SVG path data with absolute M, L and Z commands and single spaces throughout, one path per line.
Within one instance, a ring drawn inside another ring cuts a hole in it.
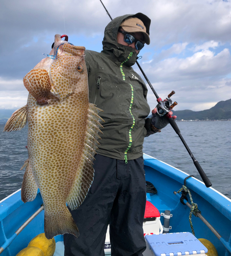
M 24 77 L 24 85 L 38 104 L 62 102 L 73 93 L 88 98 L 85 47 L 55 35 L 54 48 Z

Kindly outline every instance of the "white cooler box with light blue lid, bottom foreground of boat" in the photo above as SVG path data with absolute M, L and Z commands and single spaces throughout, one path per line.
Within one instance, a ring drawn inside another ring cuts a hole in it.
M 146 256 L 206 256 L 207 248 L 190 232 L 153 234 L 145 236 Z

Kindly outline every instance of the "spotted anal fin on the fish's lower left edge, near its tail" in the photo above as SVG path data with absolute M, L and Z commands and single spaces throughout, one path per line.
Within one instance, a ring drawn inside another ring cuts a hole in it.
M 26 162 L 26 172 L 21 185 L 21 200 L 24 203 L 33 201 L 36 198 L 38 191 L 38 186 L 35 182 L 29 159 Z

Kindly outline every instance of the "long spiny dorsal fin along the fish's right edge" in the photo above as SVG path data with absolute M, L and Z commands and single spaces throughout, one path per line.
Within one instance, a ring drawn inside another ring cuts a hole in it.
M 86 136 L 82 156 L 78 165 L 75 180 L 66 199 L 68 206 L 72 210 L 81 205 L 93 183 L 93 161 L 98 148 L 97 144 L 99 144 L 97 139 L 100 138 L 98 132 L 101 132 L 99 127 L 103 127 L 100 121 L 104 121 L 98 116 L 100 111 L 102 110 L 98 109 L 94 104 L 89 103 Z

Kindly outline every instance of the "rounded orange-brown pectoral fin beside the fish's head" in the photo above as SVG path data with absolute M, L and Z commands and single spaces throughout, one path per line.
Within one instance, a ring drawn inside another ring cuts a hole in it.
M 48 71 L 45 69 L 32 69 L 27 73 L 24 77 L 24 86 L 39 104 L 45 104 L 51 100 L 59 99 L 58 95 L 51 92 L 51 80 Z

